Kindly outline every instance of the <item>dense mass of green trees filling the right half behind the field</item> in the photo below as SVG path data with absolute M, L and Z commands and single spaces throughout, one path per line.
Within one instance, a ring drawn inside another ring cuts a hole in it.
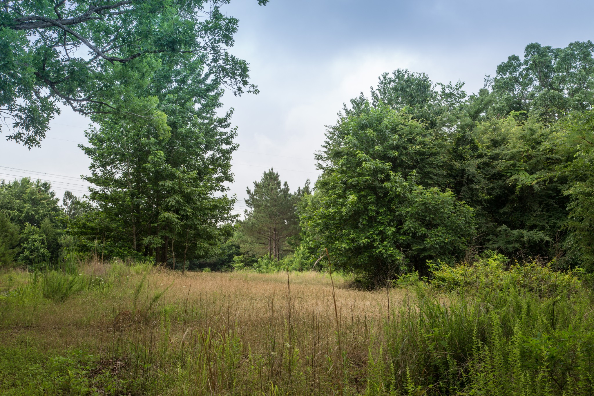
M 470 96 L 381 75 L 327 131 L 301 252 L 372 277 L 485 250 L 592 270 L 593 52 L 532 43 Z

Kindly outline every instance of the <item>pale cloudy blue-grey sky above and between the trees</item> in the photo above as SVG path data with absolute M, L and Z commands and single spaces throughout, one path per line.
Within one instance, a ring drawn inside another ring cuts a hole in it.
M 397 68 L 425 72 L 434 82 L 464 81 L 468 93 L 507 56 L 528 43 L 564 47 L 594 40 L 592 1 L 232 0 L 239 18 L 230 51 L 250 64 L 260 93 L 228 93 L 239 150 L 229 194 L 245 208 L 245 189 L 273 168 L 295 191 L 315 181 L 314 152 L 343 103 L 369 94 L 378 76 Z M 78 148 L 89 121 L 64 109 L 41 148 L 0 140 L 0 178 L 50 180 L 58 197 L 83 197 L 89 159 Z

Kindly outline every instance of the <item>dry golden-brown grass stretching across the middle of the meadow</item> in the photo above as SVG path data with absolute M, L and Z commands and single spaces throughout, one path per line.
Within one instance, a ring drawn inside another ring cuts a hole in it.
M 362 379 L 370 351 L 384 344 L 386 290 L 350 289 L 341 277 L 334 279 L 338 332 L 328 274 L 290 273 L 289 300 L 286 273 L 182 275 L 97 262 L 80 272 L 105 285 L 64 303 L 35 299 L 5 309 L 11 312 L 2 318 L 5 343 L 26 339 L 48 352 L 96 351 L 123 359 L 135 378 L 157 368 L 173 375 L 185 365 L 192 373 L 175 387 L 194 394 L 251 394 L 270 384 L 324 394 L 341 383 L 341 362 L 349 362 L 351 378 Z M 13 274 L 14 287 L 30 281 L 29 274 Z M 403 293 L 391 290 L 391 303 Z

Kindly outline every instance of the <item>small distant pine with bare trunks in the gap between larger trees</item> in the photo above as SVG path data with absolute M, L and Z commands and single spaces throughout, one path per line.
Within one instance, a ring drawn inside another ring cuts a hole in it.
M 309 190 L 306 183 L 305 191 Z M 260 182 L 254 182 L 254 190 L 247 189 L 245 219 L 239 221 L 238 240 L 242 251 L 280 260 L 289 250 L 287 239 L 299 233 L 296 204 L 304 194 L 299 188 L 291 194 L 287 182 L 282 183 L 279 174 L 272 169 L 264 172 Z

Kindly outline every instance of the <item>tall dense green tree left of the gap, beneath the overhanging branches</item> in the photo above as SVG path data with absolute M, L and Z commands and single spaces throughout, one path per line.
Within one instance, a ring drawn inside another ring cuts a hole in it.
M 218 224 L 234 219 L 224 183 L 233 180 L 236 132 L 230 113 L 216 115 L 222 92 L 197 106 L 176 90 L 163 103 L 169 116 L 109 115 L 87 131 L 90 145 L 81 147 L 91 159 L 86 180 L 97 186 L 89 199 L 99 212 L 73 226 L 86 249 L 98 252 L 99 243 L 103 254 L 154 255 L 157 263 L 175 252 L 179 258 L 179 249 L 182 257 L 202 257 L 216 248 Z

